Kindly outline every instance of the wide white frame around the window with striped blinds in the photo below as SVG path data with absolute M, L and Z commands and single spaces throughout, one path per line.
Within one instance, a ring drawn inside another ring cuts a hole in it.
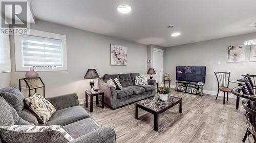
M 14 35 L 15 46 L 15 65 L 16 71 L 29 71 L 30 68 L 34 68 L 36 71 L 67 71 L 67 36 L 56 33 L 29 30 L 29 34 L 23 34 L 28 36 L 37 36 L 42 38 L 51 38 L 62 41 L 62 67 L 23 67 L 23 48 L 22 48 L 22 35 Z

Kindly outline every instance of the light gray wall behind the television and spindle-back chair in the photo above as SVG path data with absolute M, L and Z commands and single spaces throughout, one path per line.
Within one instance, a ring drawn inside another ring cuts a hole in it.
M 256 74 L 256 62 L 249 62 L 250 46 L 246 46 L 246 62 L 227 62 L 228 46 L 241 45 L 244 41 L 250 39 L 256 39 L 256 33 L 165 48 L 164 71 L 170 74 L 171 84 L 175 85 L 176 66 L 206 66 L 206 85 L 204 89 L 208 93 L 216 94 L 218 83 L 214 72 L 231 72 L 231 81 L 241 78 L 242 74 Z M 220 65 L 218 65 L 218 61 L 221 62 Z M 230 88 L 235 86 L 236 84 L 230 84 Z

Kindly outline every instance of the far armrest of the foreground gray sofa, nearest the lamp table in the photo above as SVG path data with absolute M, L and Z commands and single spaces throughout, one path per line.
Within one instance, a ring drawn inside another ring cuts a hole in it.
M 78 97 L 76 93 L 47 98 L 56 110 L 65 109 L 68 107 L 78 106 Z

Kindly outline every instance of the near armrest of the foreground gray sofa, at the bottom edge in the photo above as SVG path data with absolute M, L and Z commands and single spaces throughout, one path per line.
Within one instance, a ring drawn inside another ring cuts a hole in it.
M 112 127 L 101 127 L 94 130 L 88 134 L 80 136 L 70 143 L 115 143 L 116 142 L 116 132 Z

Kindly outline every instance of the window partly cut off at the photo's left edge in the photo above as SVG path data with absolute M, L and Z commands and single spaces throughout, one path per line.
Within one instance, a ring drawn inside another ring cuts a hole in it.
M 11 72 L 9 35 L 0 35 L 0 73 Z

